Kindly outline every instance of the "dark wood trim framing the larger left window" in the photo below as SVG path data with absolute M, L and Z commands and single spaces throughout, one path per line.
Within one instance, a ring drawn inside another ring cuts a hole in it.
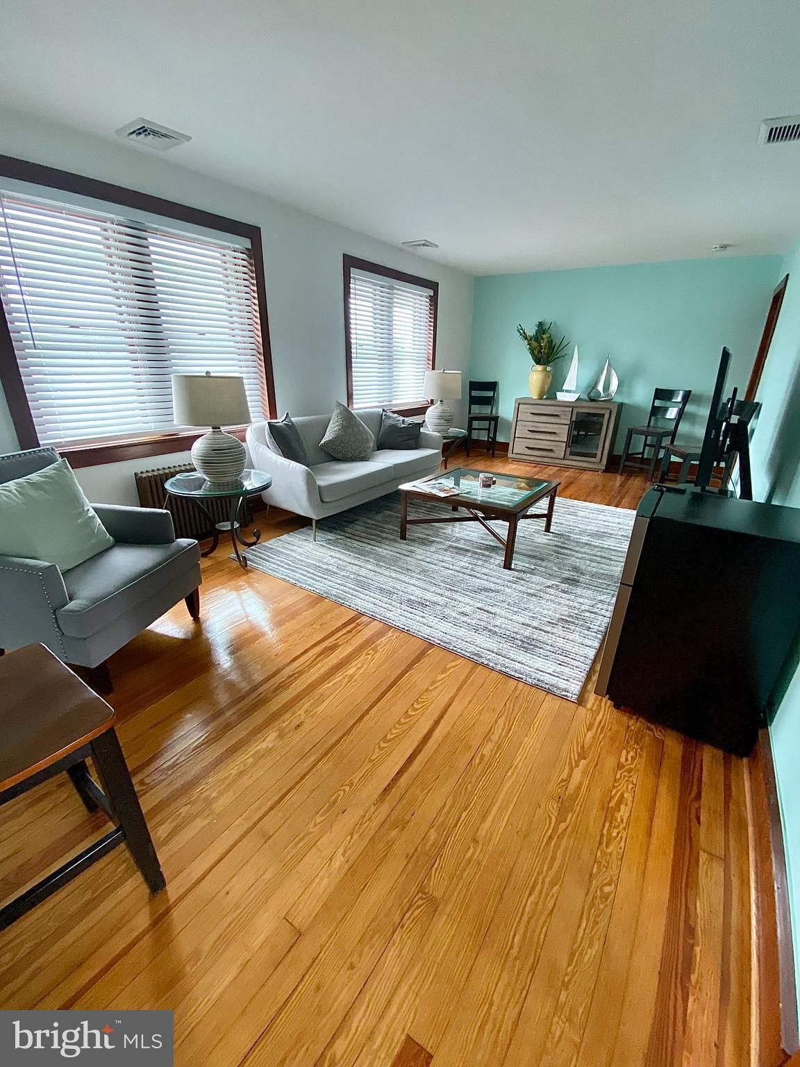
M 71 174 L 69 171 L 59 171 L 53 166 L 45 166 L 42 163 L 15 159 L 12 156 L 0 155 L 0 178 L 30 181 L 33 185 L 49 189 L 59 189 L 62 192 L 90 196 L 93 200 L 103 201 L 112 206 L 130 207 L 138 211 L 148 211 L 151 214 L 160 214 L 165 219 L 188 222 L 194 226 L 203 226 L 206 229 L 218 229 L 225 234 L 234 234 L 237 237 L 247 238 L 253 253 L 253 270 L 258 297 L 261 352 L 263 354 L 263 371 L 267 386 L 267 410 L 270 418 L 277 416 L 275 379 L 272 372 L 270 328 L 267 318 L 267 286 L 263 272 L 263 245 L 260 227 L 253 226 L 247 222 L 240 222 L 237 219 L 227 219 L 222 214 L 203 211 L 201 208 L 189 207 L 186 204 L 176 204 L 173 201 L 162 200 L 160 196 L 153 196 L 149 193 L 137 192 L 133 189 L 124 189 L 122 186 L 114 186 L 108 181 L 100 181 L 97 178 L 87 178 L 80 174 Z M 36 435 L 36 428 L 28 405 L 28 398 L 22 385 L 22 377 L 17 366 L 14 345 L 11 339 L 9 323 L 2 308 L 2 303 L 0 303 L 0 384 L 2 384 L 3 392 L 5 393 L 14 429 L 19 440 L 19 447 L 38 448 L 39 441 Z M 244 431 L 240 430 L 237 432 L 237 435 L 243 436 L 243 433 Z M 59 452 L 61 456 L 66 457 L 74 467 L 95 466 L 100 463 L 117 463 L 121 460 L 181 452 L 191 448 L 192 444 L 199 436 L 202 436 L 202 431 L 198 433 L 166 433 L 131 441 L 113 441 L 108 444 L 76 445 L 60 448 Z

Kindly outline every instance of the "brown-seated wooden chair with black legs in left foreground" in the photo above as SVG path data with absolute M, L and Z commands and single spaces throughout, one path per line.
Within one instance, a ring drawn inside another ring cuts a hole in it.
M 151 893 L 164 888 L 147 824 L 114 730 L 116 715 L 43 644 L 0 656 L 0 805 L 66 773 L 89 811 L 117 825 L 0 908 L 0 929 L 127 844 Z M 89 773 L 91 758 L 105 792 Z

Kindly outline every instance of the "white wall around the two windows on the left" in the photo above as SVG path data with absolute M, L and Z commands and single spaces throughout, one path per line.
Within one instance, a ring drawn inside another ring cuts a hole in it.
M 436 366 L 464 371 L 468 368 L 473 278 L 467 274 L 277 201 L 204 177 L 144 149 L 3 109 L 0 153 L 260 226 L 281 413 L 288 410 L 295 415 L 319 414 L 331 411 L 334 400 L 347 402 L 341 277 L 345 252 L 437 281 Z M 357 166 L 357 160 L 353 165 Z M 0 395 L 0 453 L 16 447 L 14 428 Z M 90 499 L 135 503 L 133 471 L 186 457 L 179 453 L 109 463 L 84 467 L 77 474 Z

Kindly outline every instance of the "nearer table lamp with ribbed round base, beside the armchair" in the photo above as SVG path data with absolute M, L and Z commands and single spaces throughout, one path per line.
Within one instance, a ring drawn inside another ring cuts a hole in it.
M 238 481 L 247 452 L 223 426 L 250 423 L 247 395 L 241 375 L 173 375 L 172 407 L 176 426 L 210 426 L 192 445 L 192 462 L 210 482 Z

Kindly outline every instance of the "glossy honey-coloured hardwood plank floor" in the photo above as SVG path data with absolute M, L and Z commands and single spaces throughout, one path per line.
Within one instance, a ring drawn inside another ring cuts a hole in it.
M 167 888 L 112 853 L 0 935 L 0 1006 L 172 1008 L 179 1065 L 750 1062 L 742 761 L 222 552 L 111 668 Z M 7 805 L 2 894 L 103 825 L 66 778 Z

